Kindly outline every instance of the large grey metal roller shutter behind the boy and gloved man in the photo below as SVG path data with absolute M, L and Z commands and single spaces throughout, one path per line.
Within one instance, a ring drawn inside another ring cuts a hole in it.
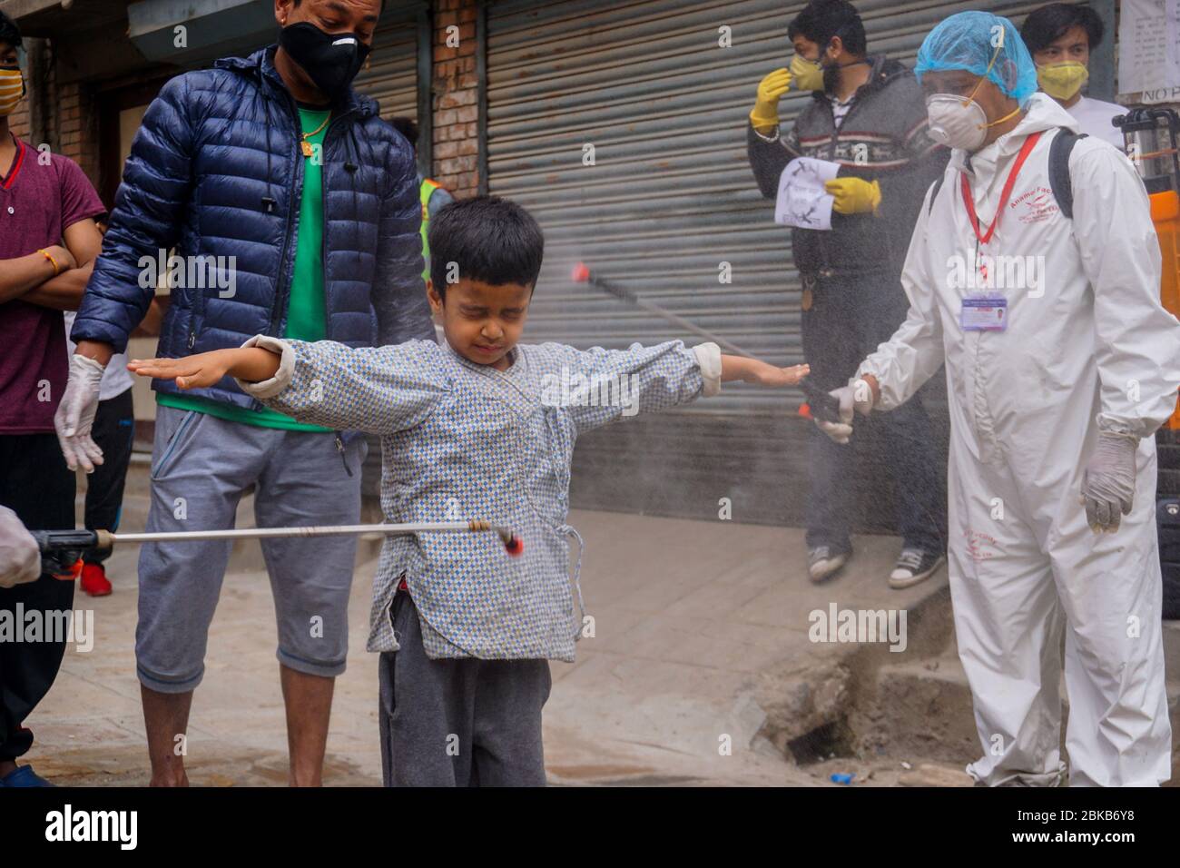
M 573 283 L 571 266 L 584 260 L 768 361 L 802 360 L 789 234 L 774 224 L 773 203 L 754 184 L 746 118 L 759 79 L 787 65 L 787 25 L 804 5 L 503 0 L 489 7 L 489 189 L 527 207 L 546 237 L 530 341 L 696 340 Z M 912 65 L 946 15 L 982 8 L 1018 24 L 1041 2 L 856 5 L 870 52 Z M 723 25 L 733 47 L 719 47 Z M 780 109 L 786 124 L 807 98 L 788 93 Z M 588 143 L 592 167 L 582 163 Z M 732 267 L 730 283 L 719 281 L 722 262 Z M 787 492 L 806 476 L 800 399 L 795 390 L 727 384 L 716 398 L 595 432 L 579 442 L 576 503 L 707 516 L 719 497 L 732 497 L 739 521 L 798 521 L 800 498 Z M 636 484 L 642 474 L 682 484 L 674 491 Z M 876 500 L 876 491 L 865 494 Z M 861 518 L 863 527 L 891 523 L 871 509 Z

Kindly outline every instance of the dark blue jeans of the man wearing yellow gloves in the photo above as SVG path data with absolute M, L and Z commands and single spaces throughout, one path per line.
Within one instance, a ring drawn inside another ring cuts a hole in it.
M 804 306 L 808 307 L 805 281 Z M 884 272 L 817 278 L 809 309 L 802 313 L 804 358 L 811 381 L 832 390 L 847 384 L 857 367 L 887 341 L 909 308 L 896 275 Z M 852 548 L 848 526 L 858 487 L 856 452 L 870 425 L 879 426 L 885 449 L 878 466 L 893 476 L 897 533 L 905 547 L 946 548 L 946 498 L 938 466 L 945 464 L 933 442 L 930 417 L 919 398 L 887 413 L 858 416 L 847 445 L 834 443 L 814 425 L 807 440 L 807 547 Z

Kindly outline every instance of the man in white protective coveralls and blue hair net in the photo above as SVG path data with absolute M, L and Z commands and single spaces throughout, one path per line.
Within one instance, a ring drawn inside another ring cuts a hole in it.
M 1062 782 L 1064 631 L 1070 783 L 1156 785 L 1172 732 L 1152 436 L 1176 405 L 1180 322 L 1147 194 L 1035 92 L 1007 19 L 948 18 L 916 72 L 953 152 L 910 243 L 909 316 L 832 392 L 843 422 L 817 424 L 845 442 L 856 412 L 946 365 L 951 600 L 983 748 L 966 770 Z

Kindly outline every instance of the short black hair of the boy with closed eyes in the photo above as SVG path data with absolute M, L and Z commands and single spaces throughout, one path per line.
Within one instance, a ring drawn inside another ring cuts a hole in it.
M 499 196 L 457 200 L 431 217 L 431 281 L 446 298 L 451 262 L 458 276 L 492 286 L 536 287 L 545 235 L 524 208 Z

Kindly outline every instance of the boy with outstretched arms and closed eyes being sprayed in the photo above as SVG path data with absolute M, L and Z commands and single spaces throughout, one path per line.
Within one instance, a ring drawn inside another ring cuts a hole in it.
M 573 660 L 584 616 L 566 539 L 581 552 L 566 524 L 578 435 L 715 394 L 726 380 L 795 385 L 807 367 L 678 340 L 518 345 L 544 248 L 532 216 L 496 197 L 455 202 L 431 221 L 430 246 L 445 344 L 353 350 L 260 335 L 129 367 L 182 389 L 234 377 L 301 422 L 380 435 L 387 521 L 481 518 L 523 539 L 523 556 L 509 559 L 493 535 L 388 537 L 368 650 L 381 653 L 386 785 L 542 785 L 548 661 Z

